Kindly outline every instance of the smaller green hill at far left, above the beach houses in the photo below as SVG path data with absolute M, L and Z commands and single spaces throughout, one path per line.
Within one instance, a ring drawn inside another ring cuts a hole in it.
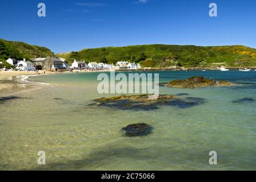
M 5 63 L 5 60 L 9 57 L 13 57 L 17 60 L 23 60 L 23 58 L 30 60 L 35 56 L 46 57 L 53 55 L 54 53 L 45 47 L 31 46 L 30 44 L 23 42 L 13 42 L 0 39 L 0 61 L 3 61 L 3 65 L 6 67 L 10 66 Z

